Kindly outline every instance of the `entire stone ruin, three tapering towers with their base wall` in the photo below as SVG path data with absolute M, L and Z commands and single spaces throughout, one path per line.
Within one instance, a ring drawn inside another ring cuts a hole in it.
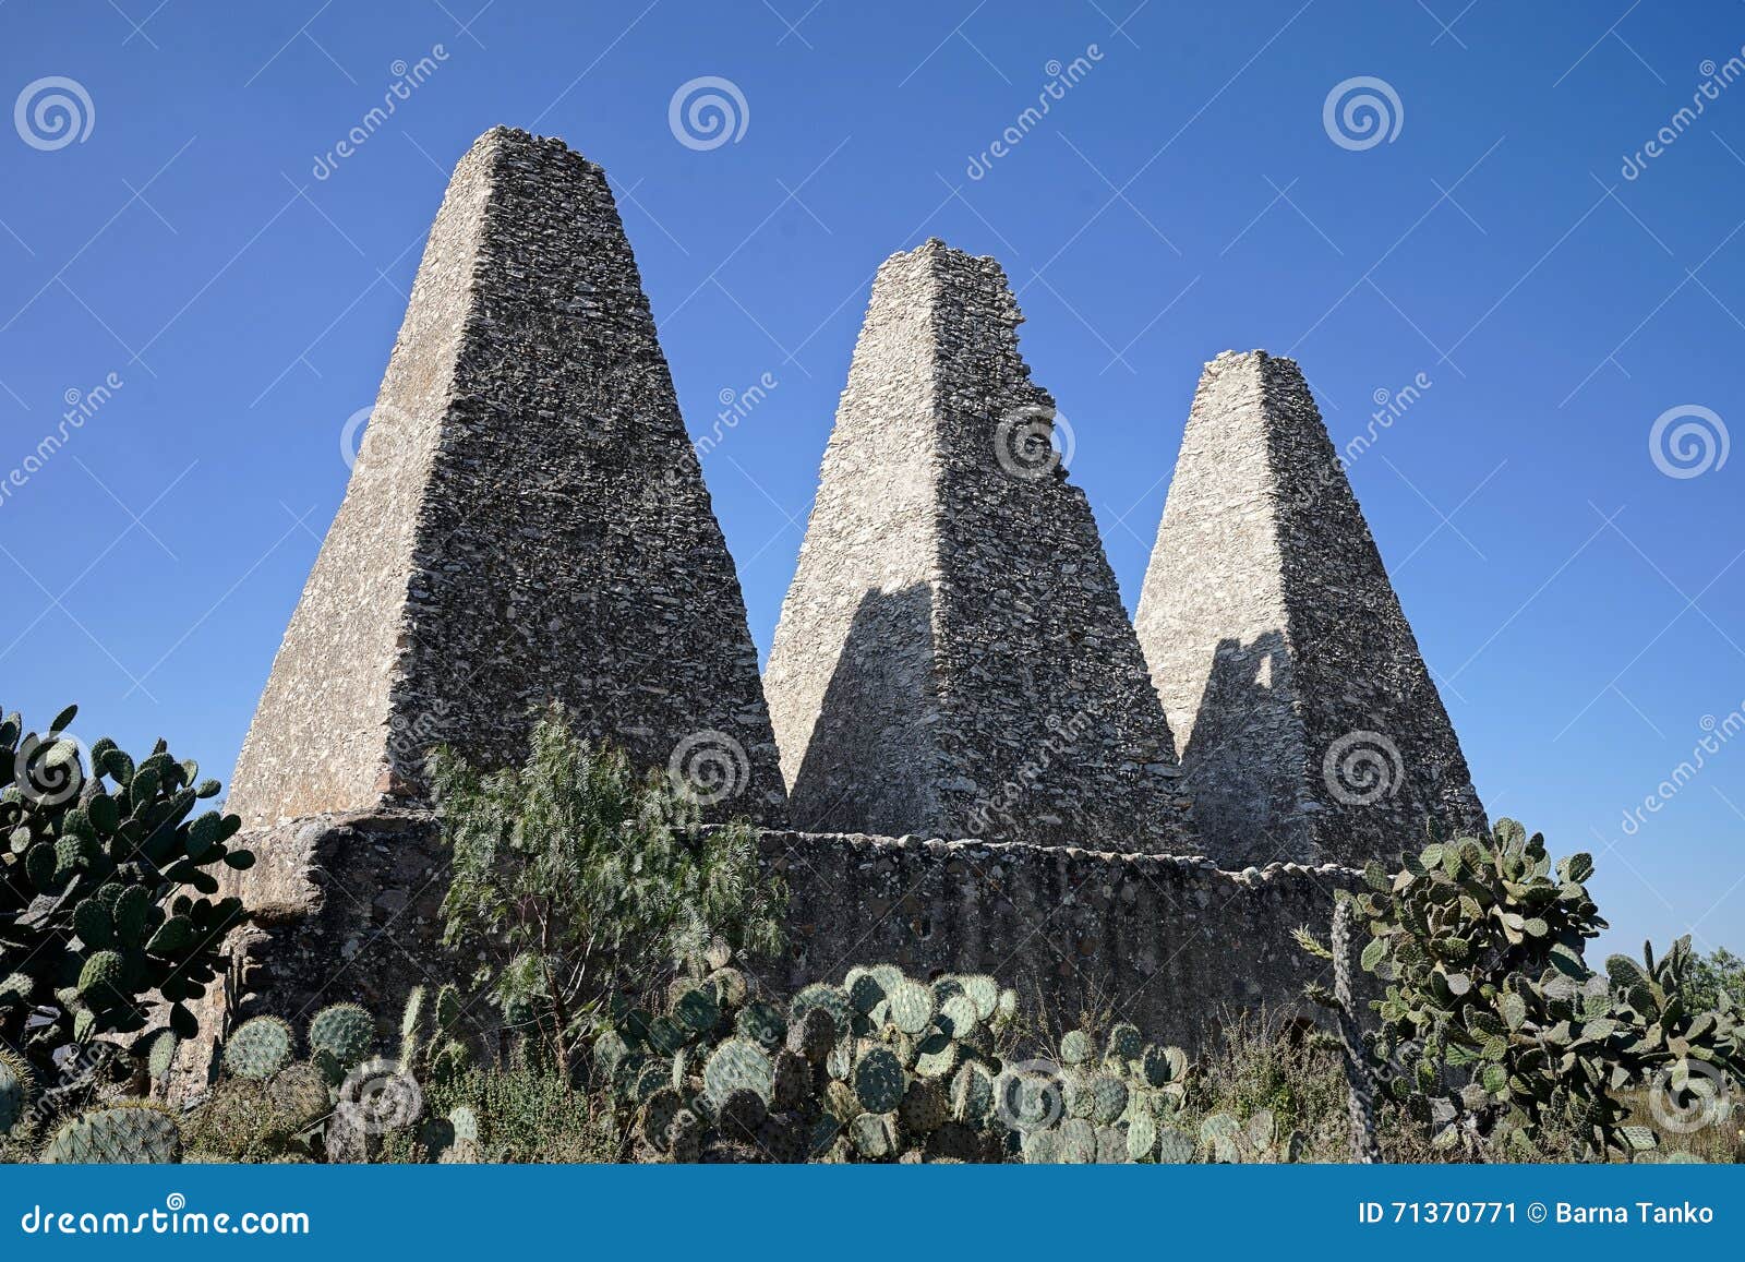
M 1338 864 L 1482 822 L 1447 714 L 1295 365 L 1208 370 L 1136 635 L 1019 319 L 991 258 L 879 271 L 761 684 L 604 173 L 480 138 L 237 765 L 255 923 L 181 1082 L 229 1019 L 468 981 L 422 754 L 513 761 L 553 698 L 766 826 L 777 988 L 986 971 L 1188 1047 L 1222 1005 L 1293 1011 Z

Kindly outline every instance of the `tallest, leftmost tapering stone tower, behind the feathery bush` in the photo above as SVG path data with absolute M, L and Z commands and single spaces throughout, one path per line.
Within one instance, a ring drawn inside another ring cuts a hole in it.
M 719 813 L 784 822 L 745 602 L 606 173 L 497 127 L 436 215 L 229 806 L 258 829 L 417 798 L 433 744 L 513 761 L 551 698 L 646 765 L 695 738 L 686 768 L 740 789 Z

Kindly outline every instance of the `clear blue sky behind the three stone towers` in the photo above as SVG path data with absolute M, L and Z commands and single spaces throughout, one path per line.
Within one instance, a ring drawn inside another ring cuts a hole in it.
M 7 709 L 229 773 L 506 122 L 606 166 L 693 433 L 777 382 L 703 461 L 764 651 L 871 274 L 928 236 L 1012 276 L 1129 609 L 1206 360 L 1298 358 L 1338 443 L 1422 375 L 1351 480 L 1487 806 L 1598 854 L 1612 944 L 1745 948 L 1738 3 L 482 3 L 0 0 Z M 670 127 L 700 77 L 736 140 Z M 1387 140 L 1326 124 L 1358 77 Z

